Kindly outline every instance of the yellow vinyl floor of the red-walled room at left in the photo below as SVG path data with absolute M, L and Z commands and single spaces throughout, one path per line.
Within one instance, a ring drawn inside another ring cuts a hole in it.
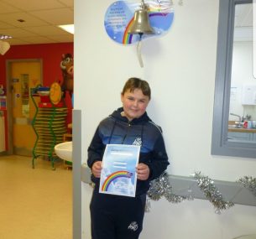
M 0 238 L 71 239 L 72 170 L 63 163 L 0 156 Z

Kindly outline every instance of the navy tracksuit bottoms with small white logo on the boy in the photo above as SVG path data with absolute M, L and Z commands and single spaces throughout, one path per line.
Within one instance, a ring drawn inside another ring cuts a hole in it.
M 91 198 L 92 239 L 138 239 L 143 228 L 146 194 L 136 197 L 100 194 Z

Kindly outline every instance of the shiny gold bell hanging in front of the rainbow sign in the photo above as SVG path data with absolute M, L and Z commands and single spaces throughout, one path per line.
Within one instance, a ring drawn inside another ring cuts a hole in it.
M 142 9 L 135 11 L 133 25 L 128 30 L 128 34 L 154 34 L 154 29 L 149 23 L 149 13 L 146 5 Z

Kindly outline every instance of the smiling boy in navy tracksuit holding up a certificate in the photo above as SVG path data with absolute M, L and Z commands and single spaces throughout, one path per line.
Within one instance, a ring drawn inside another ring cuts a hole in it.
M 147 81 L 130 78 L 123 86 L 123 107 L 102 120 L 88 148 L 87 164 L 96 184 L 91 198 L 93 239 L 138 239 L 143 229 L 144 207 L 149 182 L 169 165 L 160 127 L 147 115 L 151 98 Z M 99 193 L 102 157 L 107 144 L 139 145 L 136 196 Z

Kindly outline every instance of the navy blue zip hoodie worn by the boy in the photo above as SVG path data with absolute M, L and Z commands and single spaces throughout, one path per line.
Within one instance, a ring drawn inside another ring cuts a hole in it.
M 149 181 L 159 177 L 169 165 L 164 138 L 161 128 L 146 112 L 130 122 L 121 112 L 123 108 L 118 108 L 100 122 L 88 148 L 87 164 L 91 168 L 96 161 L 102 161 L 107 144 L 140 145 L 138 163 L 147 164 L 150 170 L 149 179 L 137 181 L 136 195 L 142 195 L 149 190 Z M 100 180 L 93 174 L 91 180 L 98 187 Z

